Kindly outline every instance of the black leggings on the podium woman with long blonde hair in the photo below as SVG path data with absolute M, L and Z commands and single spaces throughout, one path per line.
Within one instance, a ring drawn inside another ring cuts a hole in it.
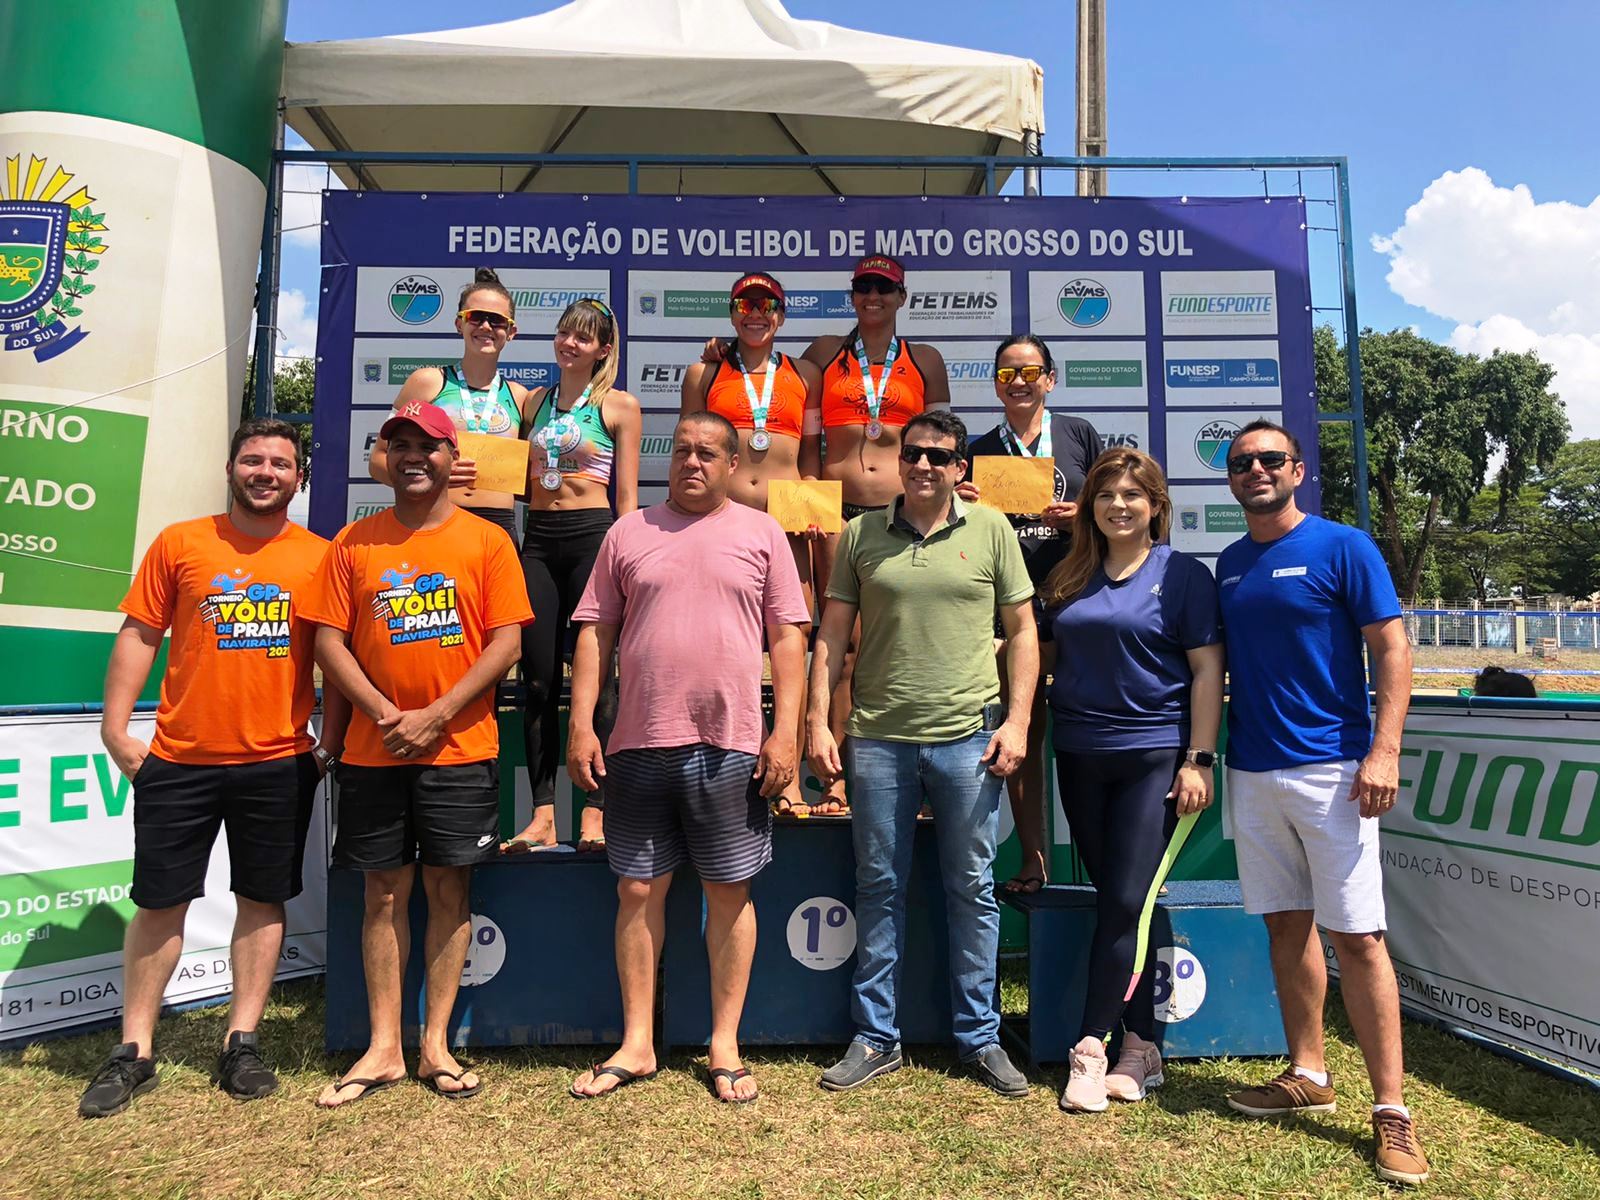
M 555 774 L 562 766 L 562 661 L 571 654 L 566 626 L 611 520 L 610 509 L 528 510 L 522 578 L 533 605 L 533 624 L 522 627 L 522 682 L 528 690 L 522 741 L 536 808 L 555 803 Z M 616 675 L 610 670 L 605 675 L 595 706 L 595 733 L 602 746 L 616 723 Z M 598 792 L 590 803 L 598 803 Z

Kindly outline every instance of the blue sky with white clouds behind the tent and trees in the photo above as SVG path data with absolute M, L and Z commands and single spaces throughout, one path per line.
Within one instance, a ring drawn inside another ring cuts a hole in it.
M 288 35 L 424 32 L 555 6 L 291 0 Z M 1045 150 L 1072 152 L 1072 0 L 789 0 L 787 8 L 795 18 L 1032 58 L 1045 69 Z M 1600 435 L 1600 139 L 1589 83 L 1600 3 L 1112 0 L 1109 8 L 1114 155 L 1347 155 L 1362 323 L 1416 325 L 1477 352 L 1539 349 L 1558 368 L 1576 432 Z M 1046 184 L 1067 187 L 1064 174 Z M 1158 176 L 1114 176 L 1112 189 L 1208 190 L 1203 181 Z M 315 251 L 291 250 L 285 266 L 285 288 L 315 296 Z

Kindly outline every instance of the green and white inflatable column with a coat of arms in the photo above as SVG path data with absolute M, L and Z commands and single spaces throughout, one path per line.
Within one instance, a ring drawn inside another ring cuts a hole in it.
M 98 701 L 144 549 L 227 494 L 285 13 L 0 5 L 0 704 Z

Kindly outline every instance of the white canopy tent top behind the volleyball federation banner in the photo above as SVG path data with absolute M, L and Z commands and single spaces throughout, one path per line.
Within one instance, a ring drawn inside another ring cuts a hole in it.
M 779 0 L 573 0 L 438 34 L 290 43 L 285 120 L 314 149 L 440 154 L 1037 154 L 1021 58 L 797 21 Z M 386 190 L 622 192 L 616 166 L 360 165 Z M 926 176 L 926 178 L 925 178 Z M 642 192 L 982 190 L 973 170 L 642 168 Z

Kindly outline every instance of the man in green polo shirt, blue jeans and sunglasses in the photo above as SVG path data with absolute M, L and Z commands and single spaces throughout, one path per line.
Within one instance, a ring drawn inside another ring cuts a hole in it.
M 822 781 L 842 771 L 827 726 L 850 632 L 861 616 L 854 710 L 846 731 L 856 846 L 856 1038 L 822 1074 L 834 1091 L 901 1066 L 894 981 L 906 939 L 917 811 L 933 808 L 950 931 L 955 1046 L 1002 1096 L 1027 1080 L 1000 1046 L 994 896 L 1002 781 L 1027 750 L 1038 678 L 1034 584 L 1010 523 L 955 496 L 966 474 L 966 426 L 947 410 L 906 422 L 902 494 L 845 526 L 811 662 L 806 749 Z M 1011 714 L 1000 709 L 995 611 L 1006 632 Z

